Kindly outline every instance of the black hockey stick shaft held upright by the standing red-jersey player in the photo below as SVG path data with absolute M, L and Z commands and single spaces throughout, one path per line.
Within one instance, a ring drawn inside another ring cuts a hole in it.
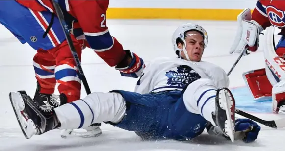
M 88 94 L 91 93 L 91 91 L 90 91 L 89 85 L 87 83 L 86 77 L 85 77 L 85 75 L 83 73 L 78 54 L 77 54 L 77 52 L 75 50 L 75 47 L 73 45 L 73 42 L 71 40 L 70 33 L 68 31 L 68 25 L 66 24 L 66 22 L 64 20 L 63 12 L 62 12 L 62 10 L 61 10 L 57 0 L 52 0 L 52 3 L 53 3 L 53 6 L 55 8 L 55 12 L 57 14 L 57 17 L 59 18 L 59 22 L 61 24 L 61 27 L 62 27 L 62 29 L 64 31 L 64 34 L 65 34 L 65 37 L 66 37 L 66 41 L 67 41 L 68 46 L 70 48 L 70 51 L 71 51 L 71 53 L 73 55 L 74 61 L 75 61 L 76 66 L 77 66 L 77 69 L 78 69 L 79 74 L 81 76 L 80 78 L 81 78 L 82 83 L 84 85 L 85 91 L 86 91 L 86 93 L 88 95 Z

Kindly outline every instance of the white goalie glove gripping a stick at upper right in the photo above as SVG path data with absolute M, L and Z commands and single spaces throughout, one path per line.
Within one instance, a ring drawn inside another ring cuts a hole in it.
M 259 23 L 251 19 L 251 10 L 249 8 L 243 10 L 237 16 L 237 33 L 230 49 L 230 54 L 241 53 L 243 50 L 256 51 L 258 48 L 259 33 L 263 31 Z M 246 51 L 245 51 L 246 52 Z M 245 53 L 247 55 L 249 53 Z

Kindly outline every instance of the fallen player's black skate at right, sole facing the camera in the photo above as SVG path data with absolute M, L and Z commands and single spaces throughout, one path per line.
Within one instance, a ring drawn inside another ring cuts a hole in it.
M 234 142 L 235 133 L 235 101 L 233 94 L 228 88 L 220 88 L 216 95 L 216 111 L 213 120 L 223 131 L 223 135 Z

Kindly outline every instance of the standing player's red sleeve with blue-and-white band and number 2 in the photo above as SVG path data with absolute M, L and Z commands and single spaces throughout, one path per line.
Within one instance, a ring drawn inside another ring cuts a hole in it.
M 116 66 L 126 53 L 106 25 L 108 0 L 71 0 L 70 11 L 78 20 L 90 47 L 109 65 Z

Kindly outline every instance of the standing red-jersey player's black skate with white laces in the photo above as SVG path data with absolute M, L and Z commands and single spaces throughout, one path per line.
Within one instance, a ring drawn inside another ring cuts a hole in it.
M 43 112 L 52 112 L 53 108 L 62 105 L 58 95 L 40 93 L 40 84 L 38 82 L 34 100 L 38 102 Z

